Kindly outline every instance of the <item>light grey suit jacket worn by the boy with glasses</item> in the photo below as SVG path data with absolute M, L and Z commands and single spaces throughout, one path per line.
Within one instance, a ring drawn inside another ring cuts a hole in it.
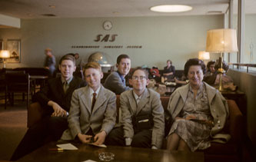
M 133 96 L 132 90 L 125 91 L 120 96 L 121 104 L 121 124 L 124 128 L 124 137 L 132 138 L 134 129 L 132 125 L 132 117 L 151 114 L 154 126 L 152 129 L 151 145 L 161 148 L 162 140 L 165 134 L 165 117 L 164 109 L 161 105 L 160 95 L 150 89 L 145 89 L 141 94 L 141 100 L 137 103 Z

